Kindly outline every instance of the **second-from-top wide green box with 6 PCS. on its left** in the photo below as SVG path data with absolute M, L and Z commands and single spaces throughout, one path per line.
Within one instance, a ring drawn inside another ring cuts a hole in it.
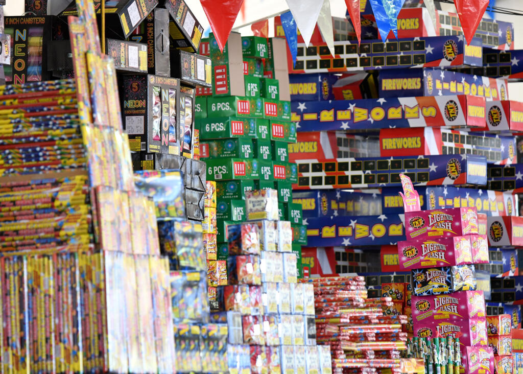
M 211 101 L 211 98 L 208 99 Z M 240 117 L 214 117 L 199 121 L 200 139 L 256 138 L 256 119 Z

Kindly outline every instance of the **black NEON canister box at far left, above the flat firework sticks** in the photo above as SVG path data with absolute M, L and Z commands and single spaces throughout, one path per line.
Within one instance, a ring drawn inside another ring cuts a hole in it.
M 48 71 L 48 47 L 51 40 L 68 38 L 67 24 L 55 16 L 4 17 L 4 26 L 5 31 L 0 35 L 0 42 L 4 52 L 7 47 L 9 53 L 0 60 L 5 61 L 9 55 L 9 62 L 4 66 L 6 83 L 21 84 L 51 79 L 51 72 Z M 7 42 L 8 37 L 10 43 Z

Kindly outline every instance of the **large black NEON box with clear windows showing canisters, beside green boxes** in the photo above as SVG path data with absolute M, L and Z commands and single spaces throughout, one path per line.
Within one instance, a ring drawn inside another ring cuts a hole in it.
M 129 135 L 131 151 L 180 155 L 181 134 L 180 81 L 157 75 L 123 75 L 122 120 Z M 184 101 L 185 109 L 185 101 Z

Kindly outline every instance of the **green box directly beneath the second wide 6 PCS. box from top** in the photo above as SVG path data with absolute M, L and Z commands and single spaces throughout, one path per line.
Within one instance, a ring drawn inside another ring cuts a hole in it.
M 254 145 L 251 139 L 231 138 L 207 140 L 200 143 L 201 158 L 254 158 Z

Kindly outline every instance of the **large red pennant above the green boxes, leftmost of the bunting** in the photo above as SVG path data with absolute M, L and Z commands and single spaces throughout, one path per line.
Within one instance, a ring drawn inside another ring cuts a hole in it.
M 223 52 L 243 0 L 200 0 L 200 3 L 207 15 L 218 47 Z

